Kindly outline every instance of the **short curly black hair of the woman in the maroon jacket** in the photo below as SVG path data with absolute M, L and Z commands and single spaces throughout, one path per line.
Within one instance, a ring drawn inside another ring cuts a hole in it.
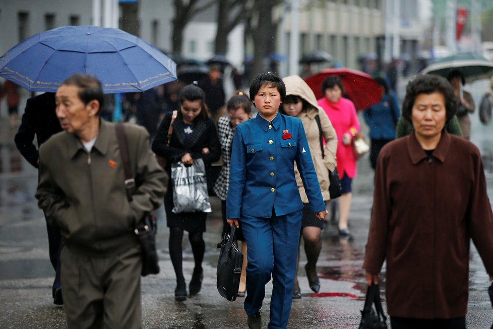
M 412 107 L 419 94 L 441 93 L 445 98 L 445 112 L 447 121 L 452 119 L 457 112 L 459 99 L 454 93 L 454 88 L 447 79 L 438 75 L 421 74 L 409 81 L 406 87 L 406 96 L 402 103 L 402 117 L 409 123 L 411 121 Z

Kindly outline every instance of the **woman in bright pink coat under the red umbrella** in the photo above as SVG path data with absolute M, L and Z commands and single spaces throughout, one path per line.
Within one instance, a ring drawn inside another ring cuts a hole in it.
M 344 87 L 339 77 L 332 75 L 322 83 L 325 97 L 318 100 L 327 113 L 337 134 L 337 171 L 341 180 L 342 195 L 339 197 L 339 235 L 350 236 L 347 227 L 351 208 L 351 184 L 356 176 L 356 159 L 352 139 L 359 132 L 359 121 L 352 101 L 342 97 Z

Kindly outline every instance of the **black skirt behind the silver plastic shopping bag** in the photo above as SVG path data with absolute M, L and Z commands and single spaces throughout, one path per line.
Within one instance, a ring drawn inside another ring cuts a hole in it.
M 164 196 L 164 210 L 166 211 L 166 226 L 179 227 L 189 233 L 201 233 L 206 230 L 207 212 L 181 212 L 174 213 L 173 209 L 173 187 L 169 180 L 168 191 Z

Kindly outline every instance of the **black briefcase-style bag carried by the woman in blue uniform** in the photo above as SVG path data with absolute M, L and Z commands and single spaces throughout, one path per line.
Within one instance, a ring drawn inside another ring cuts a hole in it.
M 238 249 L 234 239 L 235 231 L 236 227 L 231 226 L 231 233 L 224 233 L 222 241 L 217 244 L 217 247 L 221 248 L 217 261 L 217 291 L 230 302 L 235 301 L 238 295 L 243 265 L 243 253 Z

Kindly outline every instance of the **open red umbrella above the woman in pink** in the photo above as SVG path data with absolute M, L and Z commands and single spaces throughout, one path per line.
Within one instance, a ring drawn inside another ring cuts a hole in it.
M 357 109 L 365 109 L 380 102 L 383 89 L 372 76 L 347 68 L 325 69 L 304 79 L 317 99 L 324 96 L 322 83 L 331 75 L 336 75 L 342 80 L 344 97 L 351 99 Z

